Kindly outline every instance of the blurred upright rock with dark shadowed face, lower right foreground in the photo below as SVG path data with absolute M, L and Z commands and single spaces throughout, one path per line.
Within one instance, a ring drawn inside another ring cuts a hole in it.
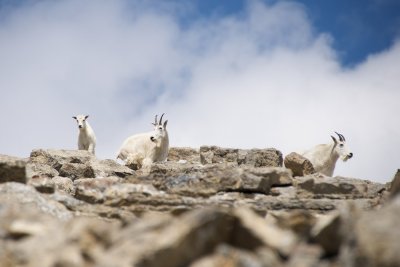
M 337 255 L 342 244 L 342 220 L 338 212 L 319 216 L 311 230 L 311 238 L 328 256 Z

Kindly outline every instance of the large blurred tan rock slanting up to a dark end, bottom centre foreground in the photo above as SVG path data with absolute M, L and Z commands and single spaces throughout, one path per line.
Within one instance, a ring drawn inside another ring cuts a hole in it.
M 234 221 L 226 212 L 203 209 L 179 219 L 153 220 L 139 228 L 133 225 L 134 229 L 127 228 L 124 238 L 101 259 L 100 266 L 187 266 L 228 241 Z

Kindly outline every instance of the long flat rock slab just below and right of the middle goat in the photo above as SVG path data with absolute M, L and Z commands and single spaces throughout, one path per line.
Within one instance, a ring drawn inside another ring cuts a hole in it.
M 222 191 L 268 194 L 271 186 L 292 183 L 290 173 L 283 168 L 240 168 L 232 164 L 154 164 L 150 176 L 144 179 L 162 191 L 202 196 Z

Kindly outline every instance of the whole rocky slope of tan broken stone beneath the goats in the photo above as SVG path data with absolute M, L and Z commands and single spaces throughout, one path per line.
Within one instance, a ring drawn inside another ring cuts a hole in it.
M 400 266 L 399 192 L 276 149 L 0 156 L 0 266 Z

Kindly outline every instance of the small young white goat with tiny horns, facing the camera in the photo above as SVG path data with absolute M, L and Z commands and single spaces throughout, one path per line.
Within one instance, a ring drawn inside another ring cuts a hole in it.
M 96 136 L 92 127 L 87 122 L 89 115 L 77 115 L 72 117 L 78 123 L 79 135 L 78 135 L 78 149 L 87 150 L 94 155 L 96 147 Z

